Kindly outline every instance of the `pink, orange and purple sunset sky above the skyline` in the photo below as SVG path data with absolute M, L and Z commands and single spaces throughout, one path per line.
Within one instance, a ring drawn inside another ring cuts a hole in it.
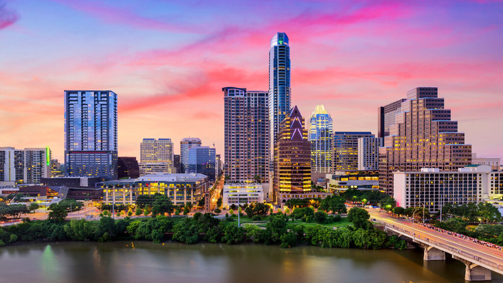
M 377 134 L 377 107 L 438 87 L 466 143 L 503 157 L 501 1 L 2 1 L 0 147 L 63 160 L 63 90 L 118 94 L 119 156 L 144 137 L 215 143 L 222 87 L 268 90 L 290 39 L 292 105 Z

